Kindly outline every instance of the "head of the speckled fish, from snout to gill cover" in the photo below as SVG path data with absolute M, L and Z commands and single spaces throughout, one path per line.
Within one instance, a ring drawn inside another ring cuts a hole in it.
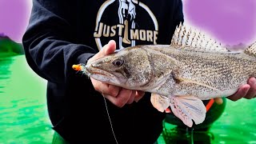
M 152 77 L 146 50 L 126 48 L 86 64 L 85 74 L 101 82 L 142 90 Z

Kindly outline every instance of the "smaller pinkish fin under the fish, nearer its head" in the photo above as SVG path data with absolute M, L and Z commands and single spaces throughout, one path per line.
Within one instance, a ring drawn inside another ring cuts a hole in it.
M 150 101 L 154 108 L 164 112 L 168 106 L 170 106 L 170 100 L 167 97 L 161 96 L 159 94 L 151 94 Z

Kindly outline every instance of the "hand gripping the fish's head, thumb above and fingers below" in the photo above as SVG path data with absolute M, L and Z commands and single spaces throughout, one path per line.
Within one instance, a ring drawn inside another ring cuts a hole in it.
M 108 44 L 103 46 L 102 50 L 100 50 L 94 57 L 90 58 L 87 63 L 96 60 L 98 58 L 102 58 L 108 54 L 114 53 L 116 49 L 116 43 L 111 40 Z M 122 107 L 126 104 L 131 104 L 132 102 L 138 102 L 139 99 L 145 94 L 145 92 L 140 90 L 127 90 L 125 88 L 110 85 L 104 82 L 100 82 L 95 80 L 94 78 L 90 78 L 94 89 L 100 92 L 103 97 L 107 98 L 110 102 L 112 102 L 115 106 Z

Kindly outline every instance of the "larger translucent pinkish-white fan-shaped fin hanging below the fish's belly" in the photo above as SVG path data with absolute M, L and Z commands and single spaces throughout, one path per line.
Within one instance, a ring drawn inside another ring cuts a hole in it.
M 193 96 L 171 97 L 170 108 L 174 115 L 189 127 L 193 125 L 193 121 L 195 124 L 199 124 L 206 118 L 206 106 L 202 100 Z

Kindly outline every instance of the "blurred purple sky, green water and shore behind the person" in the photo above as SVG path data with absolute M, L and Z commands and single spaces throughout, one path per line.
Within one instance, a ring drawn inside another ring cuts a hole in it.
M 0 0 L 0 144 L 50 143 L 54 134 L 47 114 L 46 80 L 34 74 L 22 51 L 31 7 L 32 0 Z M 186 24 L 206 31 L 231 50 L 256 41 L 255 0 L 183 0 L 183 9 Z M 186 130 L 181 135 L 166 121 L 158 143 L 169 143 L 177 135 L 190 143 L 197 138 L 203 143 L 256 143 L 255 107 L 256 99 L 226 100 L 222 115 L 203 134 Z

